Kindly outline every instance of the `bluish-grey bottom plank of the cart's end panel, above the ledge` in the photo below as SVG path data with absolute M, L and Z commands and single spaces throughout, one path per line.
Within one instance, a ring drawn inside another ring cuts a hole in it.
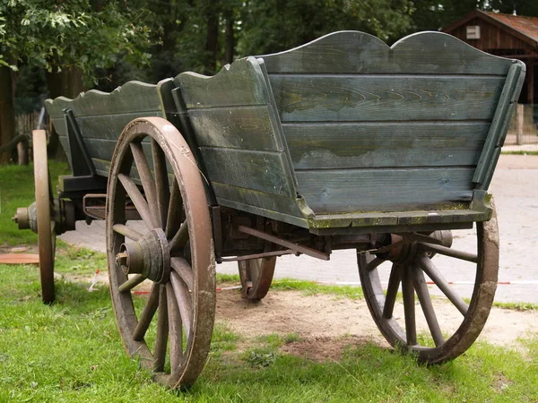
M 298 191 L 317 214 L 421 210 L 471 201 L 473 168 L 296 171 Z

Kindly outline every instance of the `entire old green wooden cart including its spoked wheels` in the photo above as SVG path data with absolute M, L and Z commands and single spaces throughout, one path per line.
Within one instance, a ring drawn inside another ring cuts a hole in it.
M 524 76 L 525 64 L 443 33 L 387 47 L 343 31 L 214 77 L 181 73 L 48 100 L 73 175 L 52 197 L 38 154 L 37 219 L 19 212 L 20 225 L 37 221 L 46 251 L 44 299 L 54 299 L 55 234 L 75 219 L 106 219 L 126 350 L 158 382 L 188 386 L 209 351 L 215 261 L 239 261 L 244 296 L 260 299 L 277 256 L 328 260 L 352 248 L 386 339 L 430 364 L 459 356 L 493 303 L 499 237 L 487 189 Z M 475 249 L 452 247 L 452 233 L 473 225 Z M 474 273 L 469 303 L 443 275 L 450 260 Z M 456 329 L 441 328 L 425 275 L 461 313 Z M 132 290 L 144 280 L 151 292 L 137 312 Z

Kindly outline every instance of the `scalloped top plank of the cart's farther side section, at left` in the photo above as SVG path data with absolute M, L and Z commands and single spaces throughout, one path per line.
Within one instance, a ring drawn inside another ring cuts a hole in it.
M 161 110 L 157 86 L 141 81 L 129 81 L 112 92 L 90 90 L 75 99 L 58 97 L 45 101 L 48 115 L 63 116 L 65 108 L 73 110 L 74 116 L 99 116 L 133 114 L 148 110 Z M 163 115 L 161 111 L 161 116 Z

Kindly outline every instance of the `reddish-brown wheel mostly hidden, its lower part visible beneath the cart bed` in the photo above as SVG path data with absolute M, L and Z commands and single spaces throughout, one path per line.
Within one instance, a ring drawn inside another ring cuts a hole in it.
M 241 295 L 251 301 L 259 301 L 267 295 L 273 280 L 276 256 L 239 261 Z

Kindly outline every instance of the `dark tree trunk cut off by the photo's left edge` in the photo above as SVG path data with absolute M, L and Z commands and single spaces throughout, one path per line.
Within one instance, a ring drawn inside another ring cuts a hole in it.
M 9 67 L 0 67 L 0 146 L 15 137 L 15 107 L 13 100 L 13 72 Z M 3 152 L 0 164 L 8 164 L 15 159 L 17 149 Z

